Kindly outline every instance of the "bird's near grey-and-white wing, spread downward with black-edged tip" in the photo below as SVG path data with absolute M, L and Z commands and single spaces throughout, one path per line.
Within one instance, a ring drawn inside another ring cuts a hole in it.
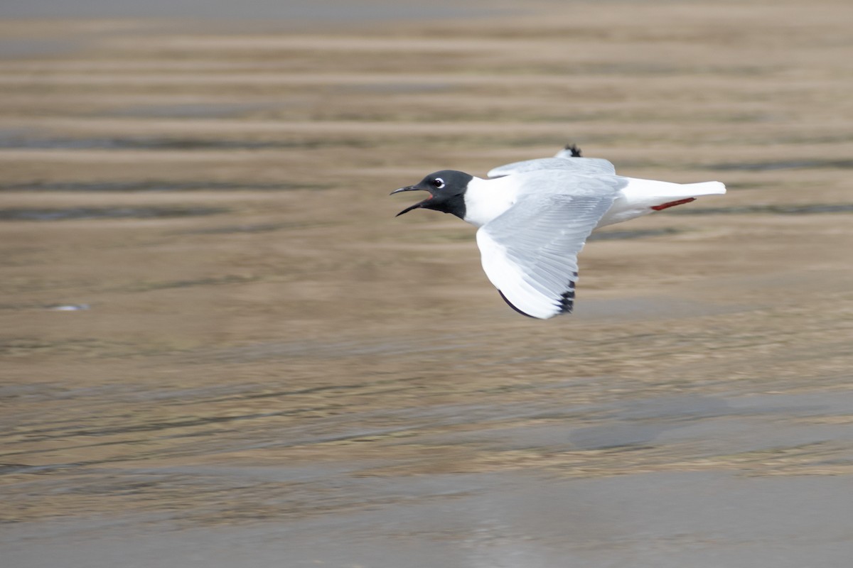
M 623 183 L 616 176 L 558 177 L 574 180 L 576 191 L 522 193 L 477 231 L 486 276 L 510 307 L 531 318 L 572 312 L 577 254 Z

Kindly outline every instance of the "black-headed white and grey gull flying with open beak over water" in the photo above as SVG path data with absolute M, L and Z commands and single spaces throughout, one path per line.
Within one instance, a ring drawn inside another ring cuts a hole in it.
M 429 196 L 403 209 L 433 209 L 479 227 L 483 270 L 516 312 L 548 319 L 572 313 L 577 255 L 598 227 L 721 195 L 719 181 L 670 183 L 616 174 L 601 158 L 566 146 L 554 158 L 514 162 L 482 179 L 453 169 L 424 177 L 394 193 Z

